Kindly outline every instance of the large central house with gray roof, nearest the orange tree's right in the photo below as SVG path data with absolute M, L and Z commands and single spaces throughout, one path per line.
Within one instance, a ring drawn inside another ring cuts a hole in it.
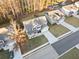
M 29 39 L 39 36 L 42 34 L 42 32 L 48 30 L 47 20 L 45 16 L 24 21 L 23 24 Z

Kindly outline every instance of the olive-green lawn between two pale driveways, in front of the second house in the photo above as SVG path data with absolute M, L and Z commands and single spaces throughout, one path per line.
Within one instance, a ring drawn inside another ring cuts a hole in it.
M 55 35 L 56 37 L 59 37 L 65 33 L 67 33 L 69 30 L 62 25 L 50 25 L 49 26 L 49 31 Z

